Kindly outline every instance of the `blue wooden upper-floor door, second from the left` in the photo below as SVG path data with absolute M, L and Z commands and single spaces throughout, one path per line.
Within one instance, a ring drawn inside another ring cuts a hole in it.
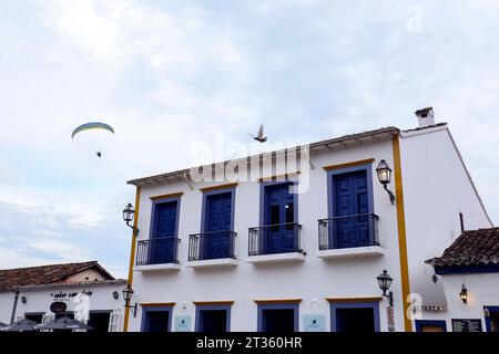
M 231 257 L 232 192 L 206 197 L 204 259 Z

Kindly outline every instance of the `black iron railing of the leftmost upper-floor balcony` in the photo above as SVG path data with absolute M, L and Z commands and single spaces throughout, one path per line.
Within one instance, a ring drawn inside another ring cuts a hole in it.
M 179 263 L 177 237 L 162 237 L 138 242 L 136 266 Z

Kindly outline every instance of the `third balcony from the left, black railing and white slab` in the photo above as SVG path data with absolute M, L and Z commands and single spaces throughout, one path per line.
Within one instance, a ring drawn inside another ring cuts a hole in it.
M 267 225 L 248 230 L 248 262 L 303 261 L 302 226 L 296 222 Z

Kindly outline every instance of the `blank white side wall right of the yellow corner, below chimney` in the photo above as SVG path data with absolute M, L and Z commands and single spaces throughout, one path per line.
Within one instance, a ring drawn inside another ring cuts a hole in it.
M 441 284 L 424 261 L 440 256 L 467 230 L 491 227 L 447 126 L 403 134 L 400 149 L 410 290 L 427 305 L 445 304 Z

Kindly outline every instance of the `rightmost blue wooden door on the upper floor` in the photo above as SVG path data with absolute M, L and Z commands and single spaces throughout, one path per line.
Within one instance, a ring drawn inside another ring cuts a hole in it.
M 369 194 L 366 170 L 333 177 L 335 248 L 368 246 L 370 239 Z

